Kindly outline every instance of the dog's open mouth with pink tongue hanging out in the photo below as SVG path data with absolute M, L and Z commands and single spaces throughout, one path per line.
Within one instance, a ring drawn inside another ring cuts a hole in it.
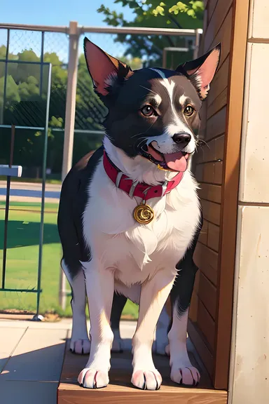
M 189 154 L 186 152 L 176 152 L 163 154 L 153 147 L 153 142 L 143 149 L 143 156 L 152 163 L 157 164 L 160 168 L 170 171 L 186 171 Z M 146 150 L 145 150 L 146 149 Z

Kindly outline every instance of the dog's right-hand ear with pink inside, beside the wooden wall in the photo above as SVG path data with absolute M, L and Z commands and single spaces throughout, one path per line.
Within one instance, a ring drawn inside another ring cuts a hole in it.
M 185 74 L 191 80 L 201 100 L 205 100 L 207 97 L 209 84 L 219 66 L 220 55 L 221 44 L 219 43 L 205 55 L 190 62 L 185 62 L 176 69 L 177 72 Z

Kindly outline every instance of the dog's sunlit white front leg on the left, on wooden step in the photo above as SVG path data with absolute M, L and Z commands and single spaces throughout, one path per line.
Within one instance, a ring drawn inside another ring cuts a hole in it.
M 88 389 L 109 384 L 113 332 L 110 326 L 114 275 L 97 260 L 83 262 L 90 311 L 90 358 L 78 376 L 78 383 Z

